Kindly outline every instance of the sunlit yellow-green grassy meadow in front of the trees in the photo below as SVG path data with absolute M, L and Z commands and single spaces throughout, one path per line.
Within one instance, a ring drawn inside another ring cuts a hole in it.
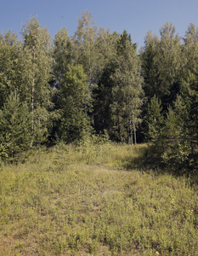
M 0 171 L 0 255 L 198 255 L 198 189 L 147 145 L 42 149 Z

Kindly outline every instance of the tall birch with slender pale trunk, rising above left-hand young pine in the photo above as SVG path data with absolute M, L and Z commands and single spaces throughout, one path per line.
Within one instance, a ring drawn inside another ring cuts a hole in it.
M 51 88 L 48 84 L 51 73 L 51 41 L 46 27 L 42 28 L 36 17 L 31 17 L 22 26 L 23 50 L 21 54 L 22 85 L 20 94 L 31 108 L 31 134 L 40 119 L 48 125 L 48 109 L 51 108 Z

